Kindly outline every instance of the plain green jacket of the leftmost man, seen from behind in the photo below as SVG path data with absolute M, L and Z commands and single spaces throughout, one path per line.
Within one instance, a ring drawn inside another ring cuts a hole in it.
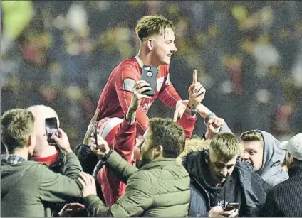
M 77 180 L 82 171 L 74 153 L 65 156 L 64 174 L 45 165 L 23 161 L 9 165 L 1 160 L 1 217 L 44 217 L 49 202 L 76 202 L 82 197 Z

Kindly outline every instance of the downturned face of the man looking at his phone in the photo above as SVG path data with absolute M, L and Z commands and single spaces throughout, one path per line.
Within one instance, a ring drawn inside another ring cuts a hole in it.
M 235 156 L 231 160 L 222 160 L 214 151 L 209 150 L 209 170 L 215 182 L 222 183 L 227 180 L 233 173 L 237 158 L 238 156 Z

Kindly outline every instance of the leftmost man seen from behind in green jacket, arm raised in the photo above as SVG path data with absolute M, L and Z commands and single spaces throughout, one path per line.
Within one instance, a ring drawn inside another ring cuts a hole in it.
M 34 116 L 26 109 L 11 109 L 1 117 L 1 140 L 8 154 L 1 155 L 1 217 L 44 217 L 49 202 L 80 200 L 82 170 L 66 133 L 59 129 L 53 139 L 65 153 L 65 175 L 28 161 L 36 146 Z

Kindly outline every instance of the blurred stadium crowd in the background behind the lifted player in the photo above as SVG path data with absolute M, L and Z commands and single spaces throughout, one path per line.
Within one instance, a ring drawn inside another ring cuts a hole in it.
M 137 20 L 155 13 L 177 27 L 182 99 L 196 68 L 203 103 L 236 134 L 302 132 L 301 1 L 1 1 L 1 115 L 46 104 L 76 146 L 111 70 L 137 54 Z M 173 112 L 157 101 L 148 115 Z

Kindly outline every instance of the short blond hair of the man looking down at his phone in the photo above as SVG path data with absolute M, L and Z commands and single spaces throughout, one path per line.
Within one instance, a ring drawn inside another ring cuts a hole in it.
M 232 133 L 219 133 L 212 138 L 209 144 L 209 153 L 216 153 L 217 157 L 229 161 L 235 156 L 239 156 L 242 146 Z

